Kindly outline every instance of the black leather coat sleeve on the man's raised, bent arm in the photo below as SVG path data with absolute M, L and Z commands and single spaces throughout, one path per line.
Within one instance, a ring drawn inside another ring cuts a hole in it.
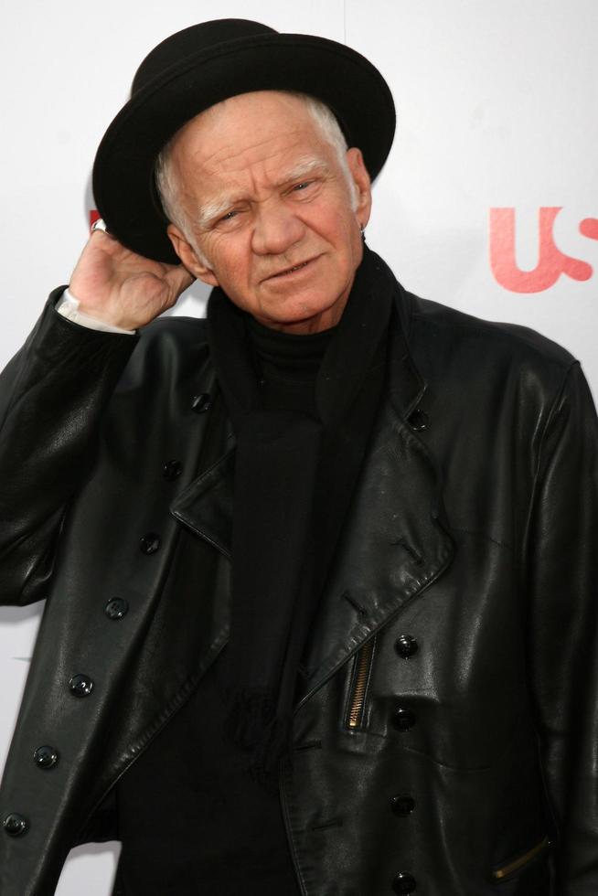
M 138 339 L 67 320 L 61 292 L 0 376 L 0 603 L 46 596 L 65 508 Z

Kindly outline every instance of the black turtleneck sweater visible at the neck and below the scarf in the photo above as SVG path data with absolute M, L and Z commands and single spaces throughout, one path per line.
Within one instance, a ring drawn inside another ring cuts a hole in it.
M 295 336 L 250 317 L 248 332 L 265 407 L 315 414 L 315 379 L 334 330 Z M 190 539 L 176 563 L 193 581 Z M 225 650 L 117 785 L 123 896 L 299 896 L 279 795 L 251 778 L 246 753 L 226 733 L 226 661 Z

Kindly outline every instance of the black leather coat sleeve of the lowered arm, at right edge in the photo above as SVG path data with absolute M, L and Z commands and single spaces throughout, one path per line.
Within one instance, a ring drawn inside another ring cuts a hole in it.
M 557 892 L 598 893 L 598 422 L 579 364 L 543 435 L 529 519 L 529 664 Z

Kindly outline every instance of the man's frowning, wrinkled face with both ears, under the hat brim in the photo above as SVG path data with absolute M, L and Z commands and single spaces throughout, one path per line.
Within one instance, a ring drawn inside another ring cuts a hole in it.
M 350 177 L 304 102 L 245 93 L 192 119 L 171 154 L 189 239 L 168 232 L 181 261 L 257 320 L 290 333 L 337 323 L 362 257 L 370 190 L 361 153 Z M 202 258 L 203 256 L 203 258 Z

